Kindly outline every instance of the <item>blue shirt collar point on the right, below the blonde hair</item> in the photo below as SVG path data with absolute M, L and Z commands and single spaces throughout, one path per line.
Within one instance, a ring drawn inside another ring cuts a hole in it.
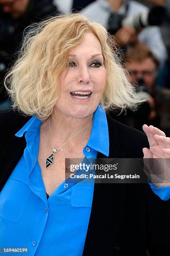
M 105 156 L 109 156 L 109 131 L 104 108 L 99 105 L 93 115 L 91 136 L 87 145 Z

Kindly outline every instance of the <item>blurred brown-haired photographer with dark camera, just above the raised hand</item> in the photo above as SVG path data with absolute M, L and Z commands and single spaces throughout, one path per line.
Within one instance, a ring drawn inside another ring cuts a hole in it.
M 159 61 L 152 51 L 142 43 L 135 44 L 125 51 L 124 68 L 129 74 L 129 81 L 134 84 L 139 93 L 146 98 L 137 111 L 127 110 L 127 113 L 110 113 L 117 120 L 142 131 L 142 123 L 157 125 L 159 128 L 160 117 L 157 115 L 157 95 L 155 93 L 155 80 Z

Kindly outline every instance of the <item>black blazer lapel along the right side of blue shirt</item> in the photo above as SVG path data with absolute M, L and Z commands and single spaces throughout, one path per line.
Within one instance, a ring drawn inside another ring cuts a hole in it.
M 109 127 L 109 158 L 124 158 L 117 125 L 107 116 Z M 98 152 L 97 158 L 107 158 Z M 83 256 L 111 255 L 117 246 L 124 210 L 126 184 L 94 184 L 89 226 Z

